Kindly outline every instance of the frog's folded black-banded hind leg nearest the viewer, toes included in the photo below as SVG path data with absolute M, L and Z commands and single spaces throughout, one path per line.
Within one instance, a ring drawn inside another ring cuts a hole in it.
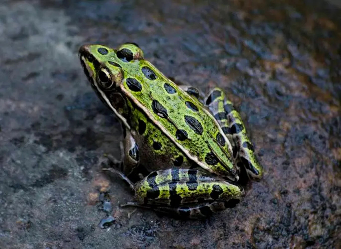
M 124 178 L 124 175 L 121 174 Z M 135 185 L 135 203 L 180 217 L 201 218 L 234 207 L 244 195 L 241 187 L 191 169 L 167 169 L 150 173 Z

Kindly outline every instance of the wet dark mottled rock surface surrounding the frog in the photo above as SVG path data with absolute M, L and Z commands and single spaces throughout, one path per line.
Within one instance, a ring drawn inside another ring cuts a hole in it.
M 2 0 L 1 248 L 341 247 L 340 9 L 210 2 Z M 121 127 L 77 50 L 124 42 L 177 82 L 227 91 L 265 172 L 235 208 L 197 221 L 118 208 L 131 192 L 101 167 Z

